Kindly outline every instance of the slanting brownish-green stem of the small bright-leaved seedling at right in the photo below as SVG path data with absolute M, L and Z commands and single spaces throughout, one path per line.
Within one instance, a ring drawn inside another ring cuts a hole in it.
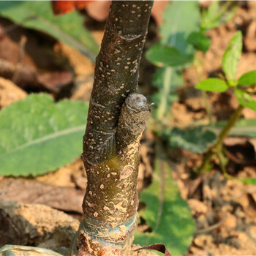
M 226 138 L 228 132 L 230 132 L 230 129 L 234 126 L 234 124 L 236 124 L 236 121 L 238 120 L 239 116 L 241 115 L 241 112 L 243 109 L 244 109 L 244 106 L 239 105 L 239 107 L 236 109 L 236 111 L 230 117 L 226 126 L 222 129 L 222 132 L 220 132 L 217 142 L 214 144 L 214 146 L 211 146 L 211 148 L 209 148 L 208 152 L 206 153 L 206 156 L 203 159 L 202 165 L 197 170 L 198 173 L 201 174 L 201 173 L 206 172 L 208 164 L 211 161 L 211 158 L 214 156 L 214 154 L 218 154 L 218 152 L 221 150 L 223 140 Z

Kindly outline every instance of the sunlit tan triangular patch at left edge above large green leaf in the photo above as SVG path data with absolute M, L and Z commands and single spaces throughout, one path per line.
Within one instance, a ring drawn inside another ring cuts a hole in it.
M 18 88 L 12 81 L 0 78 L 0 109 L 16 100 L 26 97 L 26 92 Z

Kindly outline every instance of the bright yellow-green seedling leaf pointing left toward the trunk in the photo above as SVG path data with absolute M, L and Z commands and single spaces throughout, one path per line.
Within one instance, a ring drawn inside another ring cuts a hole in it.
M 225 83 L 225 81 L 219 78 L 208 78 L 206 80 L 202 80 L 200 83 L 197 83 L 195 88 L 203 91 L 223 92 L 228 89 L 228 85 Z

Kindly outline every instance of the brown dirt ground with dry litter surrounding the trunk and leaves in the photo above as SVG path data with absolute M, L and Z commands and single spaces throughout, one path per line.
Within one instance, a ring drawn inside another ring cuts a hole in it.
M 232 20 L 208 31 L 212 43 L 203 57 L 203 77 L 221 71 L 222 54 L 237 29 L 241 29 L 244 35 L 238 76 L 256 69 L 255 13 L 256 1 L 243 2 Z M 9 20 L 0 18 L 0 29 L 10 24 Z M 97 26 L 97 30 L 92 29 L 91 33 L 100 42 L 102 27 Z M 26 36 L 24 49 L 20 49 L 22 35 Z M 146 48 L 156 42 L 157 37 L 157 25 L 152 19 Z M 20 50 L 24 51 L 24 57 L 17 75 Z M 151 84 L 154 69 L 146 59 L 142 60 L 140 88 L 146 94 L 154 91 Z M 178 127 L 185 127 L 192 121 L 208 122 L 203 99 L 194 88 L 198 82 L 195 73 L 193 67 L 184 70 L 184 86 L 179 89 L 179 99 L 171 108 L 173 122 Z M 39 91 L 52 94 L 56 100 L 68 97 L 86 101 L 90 97 L 93 76 L 94 64 L 89 59 L 44 34 L 17 27 L 1 35 L 0 110 L 31 92 Z M 208 99 L 214 121 L 227 120 L 238 106 L 230 91 L 210 93 Z M 256 118 L 256 113 L 245 109 L 242 116 Z M 154 170 L 156 139 L 150 130 L 143 136 L 139 191 L 148 184 Z M 256 178 L 256 138 L 229 137 L 224 144 L 229 159 L 227 173 L 234 178 Z M 173 177 L 196 222 L 195 235 L 186 256 L 256 255 L 256 186 L 227 180 L 217 160 L 209 173 L 195 176 L 192 169 L 200 166 L 202 156 L 180 149 L 167 152 Z M 60 246 L 70 244 L 82 217 L 86 183 L 80 158 L 36 178 L 0 176 L 0 246 L 15 243 L 57 251 Z M 38 214 L 31 215 L 31 211 Z M 147 252 L 140 252 L 140 255 L 143 253 L 151 255 Z

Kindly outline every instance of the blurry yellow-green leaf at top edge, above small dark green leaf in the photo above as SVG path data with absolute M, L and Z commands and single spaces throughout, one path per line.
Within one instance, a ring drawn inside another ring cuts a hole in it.
M 233 2 L 226 1 L 222 4 L 222 1 L 212 1 L 208 10 L 203 10 L 201 27 L 203 30 L 217 28 L 222 23 L 226 23 L 233 18 L 237 10 L 237 5 L 230 7 Z

